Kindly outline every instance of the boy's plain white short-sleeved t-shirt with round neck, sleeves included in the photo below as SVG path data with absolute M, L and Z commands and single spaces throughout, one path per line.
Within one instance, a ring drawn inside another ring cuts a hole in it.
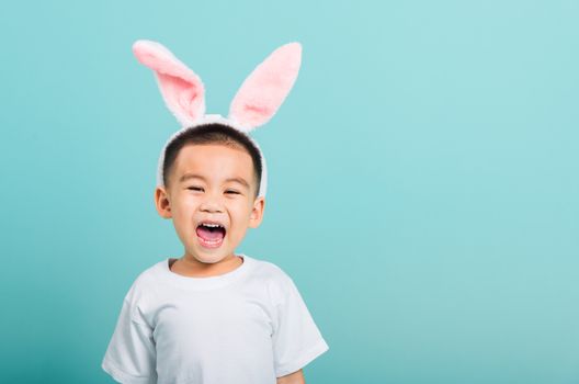
M 240 253 L 237 269 L 189 278 L 164 259 L 126 294 L 102 369 L 125 384 L 275 384 L 329 347 L 293 280 Z

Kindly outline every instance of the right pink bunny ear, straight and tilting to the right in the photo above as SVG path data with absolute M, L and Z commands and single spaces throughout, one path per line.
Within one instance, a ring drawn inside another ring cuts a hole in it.
M 241 84 L 231 101 L 229 118 L 239 123 L 245 132 L 265 124 L 290 93 L 300 64 L 299 43 L 275 49 Z

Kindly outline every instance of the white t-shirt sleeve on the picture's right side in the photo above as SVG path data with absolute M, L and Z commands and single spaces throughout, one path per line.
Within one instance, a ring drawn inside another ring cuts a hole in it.
M 329 347 L 288 275 L 283 274 L 274 292 L 272 341 L 275 376 L 280 377 L 304 368 Z

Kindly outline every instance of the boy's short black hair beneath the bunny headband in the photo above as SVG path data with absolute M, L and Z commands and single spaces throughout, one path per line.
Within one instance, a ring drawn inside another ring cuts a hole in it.
M 249 136 L 239 129 L 220 123 L 208 123 L 185 129 L 178 135 L 168 146 L 163 161 L 163 184 L 168 185 L 169 173 L 181 150 L 188 144 L 220 144 L 231 148 L 243 148 L 253 162 L 253 174 L 256 176 L 256 195 L 260 192 L 262 163 L 259 149 Z

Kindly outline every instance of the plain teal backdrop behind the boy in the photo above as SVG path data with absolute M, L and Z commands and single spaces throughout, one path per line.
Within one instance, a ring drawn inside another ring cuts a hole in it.
M 307 383 L 579 382 L 579 2 L 11 1 L 2 7 L 0 381 L 113 383 L 123 297 L 182 255 L 154 207 L 179 125 L 138 38 L 226 114 L 303 44 L 254 132 L 283 268 L 330 350 Z

